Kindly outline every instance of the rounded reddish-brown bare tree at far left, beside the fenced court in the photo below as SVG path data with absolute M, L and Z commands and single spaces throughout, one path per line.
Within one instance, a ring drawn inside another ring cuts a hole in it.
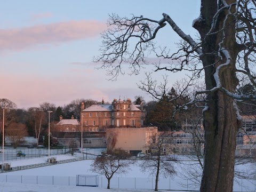
M 13 148 L 16 149 L 20 141 L 27 136 L 27 127 L 22 123 L 12 122 L 5 130 L 7 137 L 11 140 Z

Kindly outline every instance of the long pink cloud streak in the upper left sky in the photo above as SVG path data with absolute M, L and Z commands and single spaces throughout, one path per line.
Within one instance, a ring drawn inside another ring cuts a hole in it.
M 0 30 L 0 51 L 19 51 L 43 44 L 54 44 L 97 37 L 106 29 L 94 20 L 67 21 L 25 28 Z

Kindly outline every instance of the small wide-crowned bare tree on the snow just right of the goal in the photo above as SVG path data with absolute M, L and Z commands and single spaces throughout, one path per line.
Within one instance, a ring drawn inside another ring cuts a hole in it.
M 91 164 L 91 171 L 105 175 L 108 180 L 107 188 L 110 189 L 110 180 L 113 175 L 123 174 L 129 170 L 129 166 L 134 162 L 129 160 L 130 154 L 121 148 L 108 150 L 107 153 L 97 157 Z

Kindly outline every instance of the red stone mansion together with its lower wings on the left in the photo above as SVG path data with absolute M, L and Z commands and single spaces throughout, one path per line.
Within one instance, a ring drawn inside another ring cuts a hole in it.
M 101 104 L 87 108 L 84 108 L 82 102 L 80 114 L 80 119 L 74 119 L 74 116 L 71 119 L 60 117 L 60 122 L 55 126 L 54 135 L 61 144 L 81 147 L 83 134 L 83 147 L 106 147 L 107 130 L 140 129 L 145 121 L 146 112 L 142 105 L 134 105 L 131 99 L 114 99 L 111 104 L 105 104 L 102 100 Z

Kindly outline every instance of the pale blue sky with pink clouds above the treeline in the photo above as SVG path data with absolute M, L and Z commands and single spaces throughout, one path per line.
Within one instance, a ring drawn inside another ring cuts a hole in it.
M 199 0 L 180 1 L 2 1 L 0 7 L 0 98 L 14 102 L 18 108 L 39 107 L 50 102 L 68 105 L 74 99 L 113 101 L 134 100 L 141 95 L 153 100 L 137 84 L 145 79 L 147 66 L 139 75 L 120 75 L 117 81 L 93 63 L 99 55 L 100 33 L 107 29 L 108 15 L 122 17 L 143 15 L 161 20 L 169 14 L 191 36 L 199 17 Z M 157 36 L 157 43 L 175 51 L 179 36 L 167 26 Z M 149 55 L 155 61 L 155 55 Z M 154 73 L 160 81 L 163 72 Z M 169 76 L 170 86 L 185 74 Z

